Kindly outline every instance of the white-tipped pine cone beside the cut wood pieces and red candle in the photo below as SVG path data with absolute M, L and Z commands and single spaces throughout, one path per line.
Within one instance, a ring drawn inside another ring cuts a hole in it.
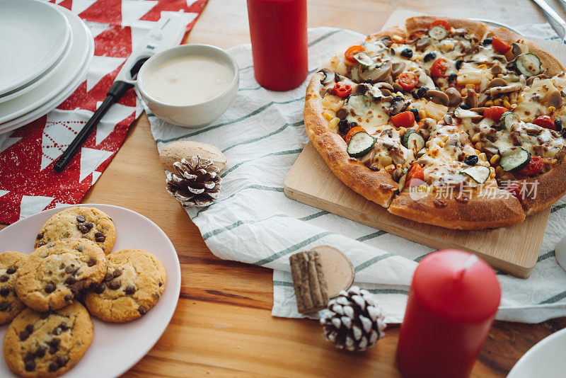
M 339 349 L 363 351 L 383 338 L 386 328 L 381 308 L 373 294 L 352 286 L 330 299 L 320 317 L 326 340 Z

